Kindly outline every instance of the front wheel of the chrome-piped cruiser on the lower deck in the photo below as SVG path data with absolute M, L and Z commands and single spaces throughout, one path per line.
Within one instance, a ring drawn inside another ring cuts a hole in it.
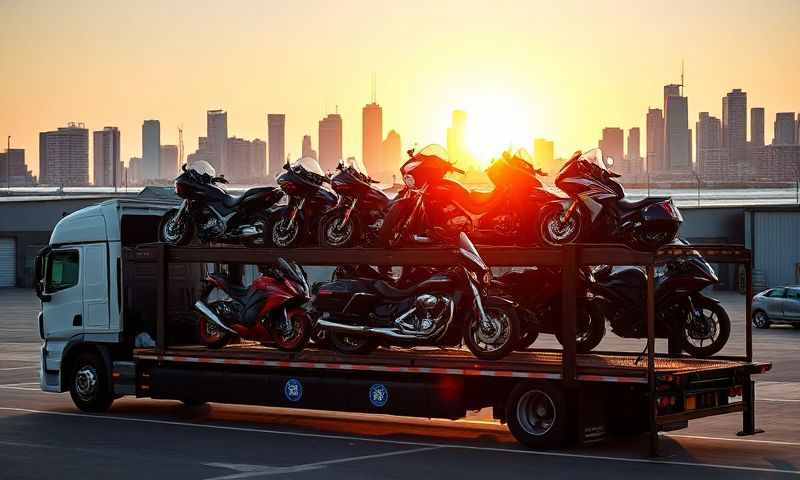
M 511 306 L 486 306 L 484 309 L 492 329 L 482 328 L 480 316 L 473 313 L 464 328 L 464 343 L 482 360 L 499 360 L 519 345 L 519 316 Z

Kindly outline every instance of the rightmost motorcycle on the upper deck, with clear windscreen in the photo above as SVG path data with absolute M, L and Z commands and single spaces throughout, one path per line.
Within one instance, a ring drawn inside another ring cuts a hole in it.
M 619 177 L 609 168 L 613 159 L 599 149 L 576 153 L 558 173 L 555 185 L 569 199 L 542 208 L 542 240 L 553 246 L 574 242 L 625 243 L 635 249 L 657 250 L 673 241 L 683 222 L 670 197 L 628 201 Z

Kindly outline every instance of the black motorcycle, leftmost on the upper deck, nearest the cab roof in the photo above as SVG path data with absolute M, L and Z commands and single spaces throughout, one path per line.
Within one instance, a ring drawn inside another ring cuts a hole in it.
M 283 192 L 275 187 L 248 189 L 240 196 L 229 195 L 208 162 L 183 165 L 175 178 L 175 193 L 183 199 L 180 207 L 167 211 L 161 219 L 159 237 L 170 245 L 186 245 L 195 233 L 203 242 L 264 244 L 267 211 L 278 203 Z

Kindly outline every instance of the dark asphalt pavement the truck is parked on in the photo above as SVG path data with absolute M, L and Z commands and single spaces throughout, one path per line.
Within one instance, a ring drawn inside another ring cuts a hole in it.
M 744 300 L 720 292 L 744 348 Z M 695 420 L 662 436 L 532 451 L 484 413 L 466 420 L 298 411 L 123 398 L 106 414 L 77 410 L 69 394 L 39 390 L 38 302 L 0 289 L 0 478 L 781 478 L 800 475 L 800 330 L 754 331 L 757 360 L 774 363 L 757 386 L 757 424 L 737 437 L 741 415 Z M 543 335 L 535 346 L 551 346 Z M 602 349 L 641 349 L 611 333 Z M 663 348 L 663 345 L 662 345 Z

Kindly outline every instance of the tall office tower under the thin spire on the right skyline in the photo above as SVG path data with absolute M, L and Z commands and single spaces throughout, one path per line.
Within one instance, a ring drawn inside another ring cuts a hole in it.
M 664 167 L 669 171 L 688 170 L 692 166 L 689 99 L 681 94 L 682 87 L 664 86 Z

